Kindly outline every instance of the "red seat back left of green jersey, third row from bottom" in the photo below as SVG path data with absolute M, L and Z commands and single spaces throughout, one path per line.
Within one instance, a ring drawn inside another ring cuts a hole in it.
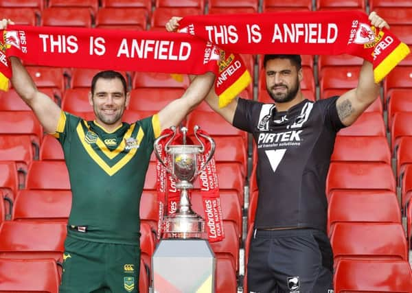
M 14 202 L 12 220 L 53 220 L 69 218 L 71 191 L 20 190 Z

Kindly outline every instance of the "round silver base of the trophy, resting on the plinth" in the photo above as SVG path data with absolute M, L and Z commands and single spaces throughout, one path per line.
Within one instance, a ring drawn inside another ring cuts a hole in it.
M 174 213 L 164 221 L 164 238 L 207 239 L 205 220 L 196 213 Z

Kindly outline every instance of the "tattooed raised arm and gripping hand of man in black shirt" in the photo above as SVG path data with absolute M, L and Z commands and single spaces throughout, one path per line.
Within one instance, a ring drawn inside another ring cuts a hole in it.
M 387 27 L 389 25 L 376 12 L 369 14 L 369 21 L 375 27 Z M 339 118 L 345 126 L 350 126 L 358 119 L 363 111 L 378 97 L 379 84 L 374 81 L 374 69 L 371 62 L 364 61 L 359 74 L 358 86 L 347 91 L 336 101 Z

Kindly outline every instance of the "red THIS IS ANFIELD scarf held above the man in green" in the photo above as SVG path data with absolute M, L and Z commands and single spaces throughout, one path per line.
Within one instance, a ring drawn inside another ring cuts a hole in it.
M 8 89 L 12 69 L 8 57 L 54 67 L 119 71 L 203 74 L 213 71 L 225 82 L 215 84 L 220 97 L 236 97 L 251 77 L 242 59 L 188 34 L 133 32 L 82 27 L 10 25 L 0 38 L 0 89 Z M 226 61 L 226 60 L 224 60 Z

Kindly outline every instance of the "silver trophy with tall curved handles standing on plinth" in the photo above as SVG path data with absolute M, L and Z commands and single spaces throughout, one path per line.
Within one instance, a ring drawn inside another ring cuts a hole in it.
M 159 162 L 165 167 L 176 182 L 176 189 L 180 189 L 181 196 L 179 200 L 179 206 L 175 213 L 165 216 L 165 238 L 205 238 L 205 220 L 192 211 L 192 204 L 189 199 L 189 189 L 193 188 L 193 180 L 199 173 L 205 169 L 207 163 L 209 163 L 211 157 L 214 154 L 215 142 L 211 137 L 198 133 L 198 126 L 194 126 L 194 136 L 200 143 L 200 145 L 187 145 L 186 134 L 187 128 L 181 128 L 183 135 L 182 145 L 170 145 L 174 137 L 176 136 L 176 127 L 172 126 L 172 134 L 164 134 L 155 140 L 155 155 Z M 211 145 L 209 156 L 198 166 L 198 156 L 205 152 L 205 145 L 203 145 L 200 137 L 207 139 Z M 161 139 L 170 137 L 167 143 L 165 143 L 165 153 L 167 161 L 164 162 L 158 152 L 158 145 Z

